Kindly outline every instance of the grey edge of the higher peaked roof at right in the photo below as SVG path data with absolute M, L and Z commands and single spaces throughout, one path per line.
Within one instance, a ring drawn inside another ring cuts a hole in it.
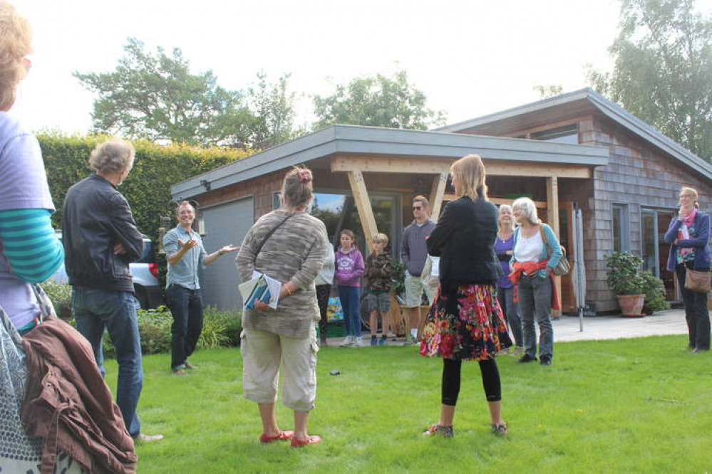
M 641 137 L 646 142 L 649 142 L 667 154 L 670 154 L 671 157 L 700 173 L 703 177 L 712 180 L 712 164 L 701 159 L 678 142 L 666 137 L 666 135 L 662 134 L 654 127 L 646 124 L 646 122 L 643 122 L 638 117 L 631 114 L 631 112 L 628 112 L 612 100 L 604 98 L 603 95 L 597 93 L 591 88 L 574 90 L 570 93 L 557 95 L 552 98 L 532 102 L 526 105 L 520 105 L 520 107 L 502 110 L 502 112 L 484 115 L 483 117 L 478 117 L 472 120 L 465 120 L 464 122 L 455 123 L 453 125 L 446 125 L 445 127 L 440 127 L 435 130 L 439 132 L 462 132 L 463 130 L 468 130 L 480 125 L 497 122 L 510 117 L 516 117 L 517 115 L 525 115 L 530 112 L 538 112 L 540 110 L 557 107 L 557 105 L 563 105 L 577 100 L 588 100 L 609 119 L 617 122 L 619 125 L 625 127 L 627 130 L 634 133 L 634 135 Z

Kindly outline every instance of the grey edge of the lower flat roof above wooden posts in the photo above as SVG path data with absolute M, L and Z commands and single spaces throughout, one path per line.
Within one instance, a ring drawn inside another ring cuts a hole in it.
M 609 156 L 606 147 L 590 145 L 424 130 L 331 125 L 324 130 L 174 184 L 171 186 L 171 195 L 174 199 L 187 199 L 205 192 L 201 181 L 209 182 L 210 189 L 219 189 L 332 154 L 453 159 L 468 153 L 478 153 L 489 160 L 588 166 L 607 164 Z

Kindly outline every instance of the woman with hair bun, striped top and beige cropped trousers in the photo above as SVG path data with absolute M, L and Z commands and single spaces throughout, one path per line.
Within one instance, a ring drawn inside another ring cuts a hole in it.
M 257 270 L 284 282 L 277 309 L 256 302 L 242 317 L 242 389 L 259 407 L 262 443 L 291 440 L 299 447 L 321 441 L 306 429 L 316 399 L 315 325 L 321 317 L 314 279 L 329 246 L 324 223 L 307 212 L 313 193 L 311 171 L 291 169 L 282 183 L 282 207 L 254 223 L 236 259 L 242 281 Z M 282 431 L 274 414 L 280 369 L 282 402 L 294 410 L 294 431 Z

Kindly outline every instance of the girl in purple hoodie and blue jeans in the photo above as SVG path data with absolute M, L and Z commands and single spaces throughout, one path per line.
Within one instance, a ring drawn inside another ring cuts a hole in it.
M 359 310 L 359 290 L 361 289 L 361 276 L 363 275 L 363 256 L 358 248 L 354 247 L 355 236 L 349 229 L 339 233 L 341 247 L 336 251 L 336 272 L 334 285 L 339 288 L 341 309 L 344 310 L 344 326 L 346 339 L 341 347 L 363 347 L 361 339 L 361 312 Z

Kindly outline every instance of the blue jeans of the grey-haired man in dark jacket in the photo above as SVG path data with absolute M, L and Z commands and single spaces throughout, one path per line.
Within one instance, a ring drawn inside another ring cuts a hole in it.
M 125 291 L 105 291 L 74 287 L 72 309 L 77 330 L 86 337 L 94 351 L 101 374 L 105 374 L 101 339 L 108 330 L 116 348 L 118 381 L 116 404 L 131 436 L 140 433 L 136 406 L 143 388 L 141 340 L 136 321 L 133 295 Z M 107 407 L 108 409 L 108 407 Z

